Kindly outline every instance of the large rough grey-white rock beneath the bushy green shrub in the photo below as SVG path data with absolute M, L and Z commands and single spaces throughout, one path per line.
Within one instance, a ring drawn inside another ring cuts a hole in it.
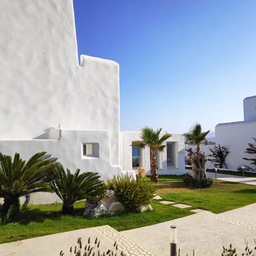
M 98 197 L 97 201 L 87 200 L 84 216 L 102 216 L 114 215 L 124 211 L 123 205 L 116 200 L 113 190 L 106 190 L 105 193 Z

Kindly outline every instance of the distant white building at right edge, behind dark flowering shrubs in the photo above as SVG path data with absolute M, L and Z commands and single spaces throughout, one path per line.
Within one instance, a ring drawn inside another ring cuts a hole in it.
M 233 123 L 219 123 L 215 127 L 216 145 L 221 144 L 230 151 L 226 163 L 229 169 L 236 170 L 239 165 L 249 165 L 243 157 L 253 155 L 245 153 L 248 143 L 253 143 L 256 137 L 256 96 L 244 99 L 244 120 Z M 255 166 L 251 166 L 255 169 Z

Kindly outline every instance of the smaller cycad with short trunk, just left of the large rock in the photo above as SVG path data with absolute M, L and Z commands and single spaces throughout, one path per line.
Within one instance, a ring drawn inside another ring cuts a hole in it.
M 103 193 L 103 182 L 97 172 L 83 172 L 77 169 L 74 174 L 69 169 L 65 172 L 59 163 L 49 176 L 52 189 L 63 201 L 62 213 L 73 214 L 74 202 L 91 199 Z

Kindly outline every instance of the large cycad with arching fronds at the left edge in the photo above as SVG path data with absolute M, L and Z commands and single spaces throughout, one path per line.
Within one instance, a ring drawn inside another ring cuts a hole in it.
M 1 219 L 5 219 L 11 207 L 15 210 L 9 218 L 19 212 L 19 198 L 29 198 L 29 194 L 47 191 L 45 178 L 54 168 L 57 158 L 51 158 L 46 152 L 39 152 L 27 162 L 15 153 L 12 157 L 0 153 L 0 197 L 4 202 L 1 207 Z

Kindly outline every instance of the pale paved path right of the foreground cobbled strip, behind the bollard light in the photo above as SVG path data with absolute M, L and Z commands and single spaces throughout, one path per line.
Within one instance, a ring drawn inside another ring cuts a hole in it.
M 235 198 L 234 198 L 235 200 Z M 244 239 L 251 247 L 256 238 L 256 204 L 223 214 L 197 210 L 197 214 L 157 225 L 121 232 L 158 256 L 169 256 L 170 225 L 177 226 L 177 247 L 181 255 L 221 256 L 222 246 L 232 243 L 241 255 Z

